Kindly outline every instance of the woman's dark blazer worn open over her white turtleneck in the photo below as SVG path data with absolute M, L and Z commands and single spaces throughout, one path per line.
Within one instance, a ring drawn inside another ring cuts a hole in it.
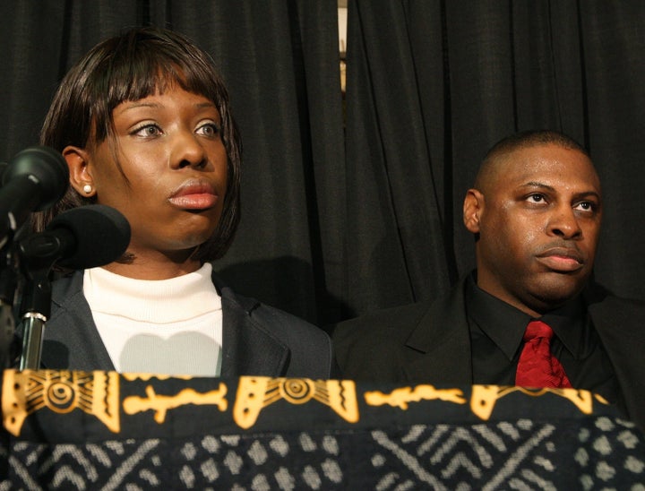
M 41 365 L 114 370 L 82 292 L 82 271 L 53 283 Z M 294 315 L 236 295 L 213 275 L 222 300 L 222 377 L 331 378 L 337 373 L 326 332 Z

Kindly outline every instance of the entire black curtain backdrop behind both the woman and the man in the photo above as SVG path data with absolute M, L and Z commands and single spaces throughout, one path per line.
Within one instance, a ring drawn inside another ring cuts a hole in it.
M 239 292 L 319 325 L 433 298 L 473 266 L 461 200 L 517 130 L 589 147 L 606 194 L 597 277 L 645 298 L 645 3 L 9 0 L 0 159 L 38 142 L 57 83 L 100 39 L 152 23 L 213 56 L 245 153 L 243 219 L 215 264 Z

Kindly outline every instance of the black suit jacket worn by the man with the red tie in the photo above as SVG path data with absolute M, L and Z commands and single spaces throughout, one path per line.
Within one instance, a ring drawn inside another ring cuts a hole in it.
M 469 385 L 472 379 L 465 279 L 434 302 L 392 307 L 339 323 L 334 349 L 345 378 Z M 621 409 L 645 428 L 645 305 L 589 287 L 591 321 L 624 396 Z

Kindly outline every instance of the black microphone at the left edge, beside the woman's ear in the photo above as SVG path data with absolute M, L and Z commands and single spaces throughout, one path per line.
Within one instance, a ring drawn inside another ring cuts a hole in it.
M 0 247 L 32 211 L 47 210 L 58 202 L 68 185 L 69 168 L 60 152 L 45 146 L 19 151 L 2 172 Z

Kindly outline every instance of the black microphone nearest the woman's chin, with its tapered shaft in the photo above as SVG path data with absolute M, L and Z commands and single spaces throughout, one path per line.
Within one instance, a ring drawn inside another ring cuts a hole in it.
M 128 244 L 130 224 L 121 212 L 88 204 L 60 213 L 44 231 L 23 238 L 19 250 L 28 265 L 85 270 L 116 261 Z

